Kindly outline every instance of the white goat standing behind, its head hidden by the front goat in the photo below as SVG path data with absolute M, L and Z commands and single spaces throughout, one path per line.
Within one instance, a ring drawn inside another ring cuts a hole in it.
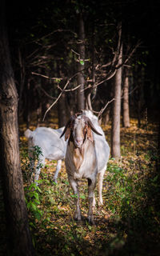
M 56 171 L 54 174 L 54 182 L 57 182 L 58 172 L 61 169 L 62 159 L 65 158 L 66 154 L 66 142 L 64 138 L 60 138 L 64 127 L 57 130 L 38 127 L 36 130 L 31 131 L 27 129 L 25 131 L 25 136 L 28 138 L 29 153 L 32 157 L 32 152 L 34 150 L 33 146 L 39 146 L 42 150 L 42 154 L 39 156 L 38 165 L 35 171 L 34 181 L 38 181 L 39 174 L 41 172 L 40 163 L 44 166 L 45 159 L 58 160 Z M 32 167 L 34 162 L 32 162 Z

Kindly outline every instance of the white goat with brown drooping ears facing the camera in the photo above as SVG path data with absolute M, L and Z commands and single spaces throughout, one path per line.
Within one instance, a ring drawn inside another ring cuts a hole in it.
M 101 126 L 98 125 L 98 118 L 88 110 L 83 111 L 83 114 L 71 116 L 70 120 L 66 123 L 61 137 L 63 134 L 65 134 L 65 139 L 68 139 L 65 158 L 66 172 L 70 186 L 76 195 L 76 211 L 74 217 L 78 221 L 81 220 L 78 179 L 87 178 L 89 200 L 88 220 L 94 223 L 92 207 L 95 206 L 94 189 L 96 179 L 98 177 L 98 203 L 102 205 L 102 179 L 109 159 L 110 147 L 106 142 Z

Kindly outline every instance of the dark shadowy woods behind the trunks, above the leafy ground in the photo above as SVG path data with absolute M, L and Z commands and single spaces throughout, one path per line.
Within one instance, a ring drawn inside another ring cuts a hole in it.
M 123 62 L 130 57 L 122 66 L 122 86 L 127 70 L 130 115 L 138 118 L 139 126 L 140 119 L 146 115 L 154 120 L 158 118 L 158 11 L 158 1 L 7 4 L 6 20 L 18 89 L 19 118 L 29 125 L 31 114 L 37 111 L 38 122 L 42 122 L 47 108 L 61 93 L 59 88 L 63 89 L 69 78 L 66 90 L 78 86 L 80 14 L 85 27 L 85 56 L 81 65 L 84 86 L 90 86 L 85 90 L 86 102 L 90 94 L 91 107 L 100 111 L 113 98 L 114 78 L 106 79 L 115 69 L 111 62 L 118 45 L 118 22 L 122 22 Z M 133 50 L 134 54 L 131 54 Z M 94 86 L 98 83 L 99 86 Z M 78 90 L 62 94 L 46 118 L 51 112 L 58 113 L 59 125 L 64 125 L 65 117 L 78 110 L 77 94 Z M 103 113 L 104 118 L 109 115 L 109 109 L 110 106 Z M 108 120 L 109 116 L 106 118 Z

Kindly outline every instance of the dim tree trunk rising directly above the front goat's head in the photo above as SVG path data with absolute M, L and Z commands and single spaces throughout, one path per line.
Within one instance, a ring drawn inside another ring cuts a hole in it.
M 78 88 L 78 110 L 84 110 L 85 108 L 85 95 L 84 95 L 84 86 L 85 86 L 85 78 L 83 74 L 83 70 L 85 67 L 85 28 L 84 21 L 82 18 L 82 13 L 79 14 L 78 17 L 78 26 L 79 26 L 79 40 L 78 40 L 78 54 L 79 54 L 79 62 L 78 62 L 78 85 L 81 85 Z

